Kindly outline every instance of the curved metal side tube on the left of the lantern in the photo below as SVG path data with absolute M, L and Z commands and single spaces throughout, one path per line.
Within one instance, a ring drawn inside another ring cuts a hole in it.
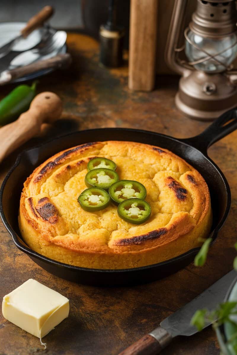
M 167 65 L 172 70 L 183 76 L 189 75 L 192 71 L 191 69 L 181 65 L 181 62 L 177 60 L 176 51 L 178 48 L 179 33 L 182 28 L 187 2 L 188 0 L 176 0 L 174 3 L 165 49 L 165 60 Z

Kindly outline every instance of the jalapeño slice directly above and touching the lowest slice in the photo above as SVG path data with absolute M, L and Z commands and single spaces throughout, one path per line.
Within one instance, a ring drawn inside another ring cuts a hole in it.
M 138 181 L 120 180 L 109 187 L 109 195 L 114 204 L 118 205 L 129 198 L 146 197 L 146 188 Z

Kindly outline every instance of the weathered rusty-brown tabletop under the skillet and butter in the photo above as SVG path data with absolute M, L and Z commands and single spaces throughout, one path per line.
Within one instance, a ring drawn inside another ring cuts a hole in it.
M 177 112 L 174 95 L 178 78 L 158 77 L 156 90 L 151 93 L 130 92 L 127 65 L 116 70 L 99 67 L 98 44 L 93 39 L 69 34 L 68 48 L 73 56 L 71 69 L 43 77 L 38 85 L 39 92 L 54 91 L 63 98 L 63 116 L 53 129 L 24 147 L 86 128 L 132 127 L 189 137 L 208 126 L 206 122 L 189 120 Z M 12 87 L 1 88 L 1 97 Z M 0 222 L 0 299 L 27 279 L 34 278 L 70 299 L 69 318 L 43 339 L 47 343 L 47 354 L 118 354 L 232 269 L 237 225 L 236 147 L 237 131 L 209 149 L 210 157 L 230 184 L 232 207 L 203 268 L 190 264 L 165 279 L 135 287 L 98 288 L 75 284 L 37 266 L 15 247 Z M 13 153 L 0 165 L 1 181 L 16 155 L 17 152 Z M 1 355 L 27 355 L 39 351 L 42 346 L 38 338 L 6 321 L 0 314 Z M 219 347 L 209 327 L 192 337 L 177 339 L 163 353 L 216 355 Z

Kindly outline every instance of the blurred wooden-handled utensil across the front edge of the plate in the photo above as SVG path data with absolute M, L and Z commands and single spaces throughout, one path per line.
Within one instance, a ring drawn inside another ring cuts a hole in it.
M 5 70 L 0 74 L 0 85 L 4 85 L 12 80 L 16 80 L 25 75 L 44 69 L 66 69 L 71 64 L 71 61 L 71 55 L 69 53 L 65 53 L 56 55 L 55 57 L 49 59 L 39 60 L 32 64 L 15 69 Z

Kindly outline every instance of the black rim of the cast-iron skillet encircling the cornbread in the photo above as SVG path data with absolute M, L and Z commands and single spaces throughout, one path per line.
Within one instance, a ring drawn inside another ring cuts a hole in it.
M 21 244 L 21 242 L 18 240 L 22 239 L 20 236 L 17 235 L 16 231 L 9 225 L 9 223 L 7 222 L 7 218 L 4 214 L 4 210 L 3 210 L 3 206 L 2 206 L 2 198 L 3 198 L 3 193 L 4 193 L 4 189 L 6 186 L 6 183 L 8 181 L 8 179 L 10 178 L 10 175 L 13 173 L 13 171 L 17 168 L 18 165 L 20 165 L 21 163 L 21 159 L 23 157 L 24 154 L 27 154 L 30 151 L 33 151 L 34 149 L 41 149 L 42 147 L 44 147 L 45 145 L 49 144 L 49 143 L 53 143 L 54 141 L 60 140 L 62 138 L 68 137 L 68 136 L 72 136 L 75 135 L 77 133 L 80 132 L 85 132 L 85 133 L 90 133 L 92 131 L 130 131 L 130 132 L 136 132 L 136 133 L 145 133 L 145 134 L 149 134 L 149 135 L 155 135 L 158 137 L 164 137 L 164 138 L 168 138 L 174 142 L 177 142 L 179 144 L 184 144 L 185 146 L 188 146 L 192 149 L 195 149 L 196 151 L 198 151 L 201 155 L 204 156 L 205 159 L 207 159 L 209 161 L 209 163 L 214 166 L 214 168 L 217 170 L 217 172 L 220 174 L 221 179 L 223 181 L 223 184 L 225 186 L 226 189 L 226 195 L 227 195 L 227 201 L 226 201 L 226 209 L 225 212 L 223 213 L 223 216 L 220 220 L 220 222 L 215 226 L 215 228 L 211 231 L 209 237 L 212 237 L 212 242 L 211 245 L 215 242 L 215 240 L 217 239 L 218 233 L 221 230 L 221 228 L 223 227 L 228 214 L 230 212 L 230 207 L 231 207 L 231 191 L 230 191 L 230 186 L 228 184 L 228 181 L 225 177 L 225 175 L 222 173 L 221 169 L 216 165 L 216 163 L 213 162 L 213 160 L 211 158 L 209 158 L 208 154 L 204 154 L 203 152 L 201 152 L 198 148 L 194 147 L 192 145 L 192 142 L 189 142 L 189 139 L 191 140 L 193 137 L 190 138 L 174 138 L 172 136 L 168 136 L 168 135 L 164 135 L 162 133 L 158 133 L 158 132 L 152 132 L 152 131 L 147 131 L 147 130 L 140 130 L 140 129 L 133 129 L 133 128 L 126 128 L 126 127 L 105 127 L 105 128 L 94 128 L 94 129 L 87 129 L 87 130 L 79 130 L 79 131 L 74 131 L 74 132 L 70 132 L 67 134 L 63 134 L 54 138 L 49 138 L 47 141 L 43 142 L 43 143 L 39 143 L 36 146 L 33 146 L 32 148 L 29 149 L 24 149 L 21 153 L 19 153 L 17 155 L 16 161 L 15 163 L 12 165 L 12 167 L 10 168 L 10 170 L 8 171 L 8 173 L 6 174 L 4 180 L 2 181 L 1 187 L 0 187 L 0 217 L 2 220 L 2 223 L 4 224 L 6 230 L 9 232 L 9 234 L 11 235 L 14 244 L 17 246 L 18 249 L 20 249 L 21 251 L 25 252 L 29 257 L 33 257 L 33 258 L 37 258 L 38 260 L 42 260 L 46 263 L 49 264 L 54 264 L 55 266 L 60 266 L 63 268 L 67 268 L 67 269 L 71 269 L 71 271 L 83 271 L 83 272 L 97 272 L 97 273 L 126 273 L 126 272 L 136 272 L 136 271 L 143 271 L 143 270 L 147 270 L 147 269 L 151 269 L 151 268 L 155 268 L 155 267 L 163 267 L 166 266 L 167 264 L 172 264 L 175 262 L 178 262 L 179 260 L 185 260 L 186 258 L 188 258 L 188 256 L 191 255 L 195 255 L 199 250 L 200 247 L 196 247 L 194 249 L 190 249 L 189 251 L 187 251 L 186 253 L 183 253 L 181 255 L 178 255 L 174 258 L 171 258 L 169 260 L 160 262 L 160 263 L 156 263 L 156 264 L 151 264 L 151 265 L 146 265 L 146 266 L 141 266 L 141 267 L 136 267 L 136 268 L 128 268 L 128 269 L 94 269 L 94 268 L 84 268 L 84 267 L 79 267 L 79 266 L 74 266 L 74 265 L 70 265 L 70 264 L 66 264 L 66 263 L 62 263 L 60 261 L 56 261 L 53 259 L 50 259 L 48 257 L 45 257 L 41 254 L 39 254 L 38 252 L 30 249 L 29 247 L 24 246 L 23 244 Z M 82 143 L 84 144 L 84 143 Z M 147 143 L 144 143 L 147 144 Z M 67 149 L 67 148 L 66 148 Z M 182 158 L 182 157 L 181 157 Z M 23 241 L 23 240 L 22 240 Z M 24 242 L 24 241 L 23 241 Z M 26 243 L 25 243 L 26 244 Z

